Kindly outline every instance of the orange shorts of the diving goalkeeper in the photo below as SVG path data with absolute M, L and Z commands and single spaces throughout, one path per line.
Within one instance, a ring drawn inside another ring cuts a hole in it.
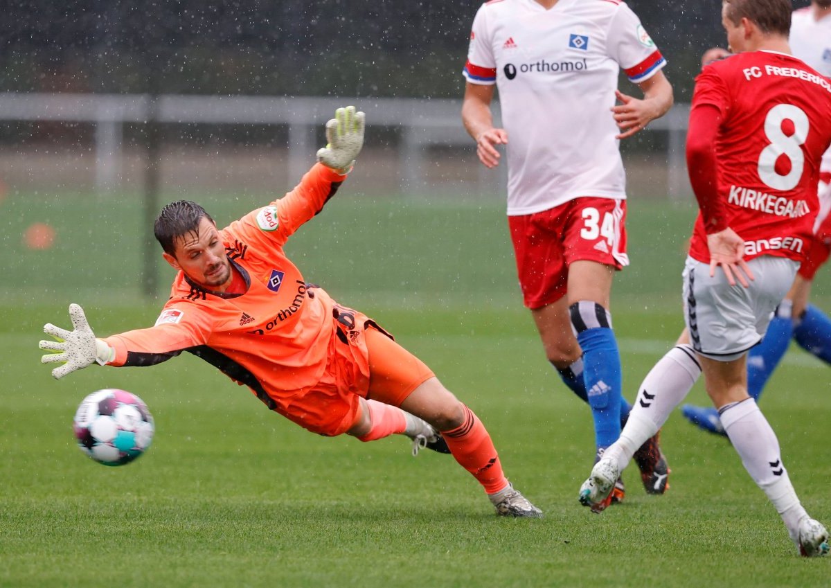
M 335 309 L 329 360 L 320 380 L 275 399 L 278 413 L 328 437 L 352 428 L 361 415 L 361 397 L 399 406 L 434 375 L 375 321 L 345 306 Z

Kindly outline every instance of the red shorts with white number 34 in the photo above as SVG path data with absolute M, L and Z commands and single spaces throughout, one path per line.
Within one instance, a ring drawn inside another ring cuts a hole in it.
M 565 296 L 572 262 L 617 270 L 629 265 L 625 221 L 626 200 L 596 197 L 508 217 L 525 306 L 540 308 Z

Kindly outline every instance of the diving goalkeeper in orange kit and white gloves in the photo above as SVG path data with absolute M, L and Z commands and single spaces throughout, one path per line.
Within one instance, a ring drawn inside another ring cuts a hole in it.
M 247 385 L 269 409 L 313 433 L 373 441 L 391 434 L 452 453 L 499 515 L 541 517 L 505 478 L 484 425 L 415 355 L 361 312 L 308 284 L 283 252 L 352 170 L 364 114 L 338 109 L 318 164 L 283 198 L 217 228 L 199 204 L 162 208 L 154 233 L 178 271 L 155 326 L 97 339 L 81 306 L 72 331 L 43 327 L 57 341 L 43 363 L 61 378 L 87 365 L 155 365 L 188 351 Z

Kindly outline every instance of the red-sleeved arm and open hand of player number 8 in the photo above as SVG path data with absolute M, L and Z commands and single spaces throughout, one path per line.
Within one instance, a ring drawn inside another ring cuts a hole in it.
M 696 194 L 707 247 L 710 250 L 710 275 L 721 267 L 730 286 L 736 280 L 745 288 L 753 272 L 743 259 L 745 241 L 727 224 L 725 200 L 720 198 L 715 159 L 716 136 L 721 125 L 721 111 L 714 105 L 696 105 L 690 111 L 690 125 L 686 140 L 686 165 L 692 191 Z

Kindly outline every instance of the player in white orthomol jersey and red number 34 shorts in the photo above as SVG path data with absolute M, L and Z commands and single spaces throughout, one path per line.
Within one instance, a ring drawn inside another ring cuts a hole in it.
M 612 274 L 628 264 L 619 143 L 669 110 L 665 65 L 618 0 L 491 0 L 470 33 L 462 120 L 485 166 L 507 145 L 524 304 L 548 360 L 592 409 L 596 455 L 617 439 L 629 409 L 609 312 Z M 621 68 L 642 100 L 617 90 Z M 493 125 L 494 87 L 504 128 Z M 664 492 L 657 435 L 639 465 L 647 491 Z M 621 483 L 609 501 L 622 496 Z

